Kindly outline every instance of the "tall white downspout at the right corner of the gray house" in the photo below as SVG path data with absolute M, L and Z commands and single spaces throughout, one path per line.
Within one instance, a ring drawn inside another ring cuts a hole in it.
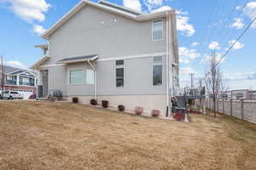
M 166 116 L 169 116 L 169 20 L 166 12 Z

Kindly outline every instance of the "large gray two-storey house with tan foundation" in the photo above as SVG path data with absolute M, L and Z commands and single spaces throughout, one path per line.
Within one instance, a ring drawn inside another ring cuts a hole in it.
M 162 116 L 170 111 L 179 66 L 175 10 L 142 14 L 81 1 L 42 37 L 48 52 L 32 69 L 40 72 L 43 97 L 61 89 L 69 101 L 107 99 L 114 107 L 143 106 Z

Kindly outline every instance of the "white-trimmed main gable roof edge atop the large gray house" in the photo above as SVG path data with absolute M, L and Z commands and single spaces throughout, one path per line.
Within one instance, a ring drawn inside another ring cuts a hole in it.
M 89 0 L 81 0 L 74 8 L 72 8 L 67 14 L 65 14 L 61 20 L 58 20 L 55 25 L 51 26 L 48 31 L 45 31 L 42 37 L 48 39 L 58 28 L 60 28 L 67 20 L 71 19 L 74 14 L 77 14 L 81 8 L 89 5 L 95 8 L 100 8 L 111 12 L 113 14 L 119 14 L 131 20 L 143 21 L 143 20 L 155 20 L 160 17 L 166 17 L 166 13 L 175 15 L 174 9 L 167 9 L 165 11 L 155 12 L 152 14 L 143 14 L 130 8 L 125 8 L 117 4 L 108 3 L 106 1 L 100 1 L 99 3 L 93 3 Z

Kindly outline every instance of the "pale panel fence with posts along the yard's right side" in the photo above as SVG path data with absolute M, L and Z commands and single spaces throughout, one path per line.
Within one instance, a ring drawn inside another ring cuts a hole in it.
M 206 99 L 206 108 L 213 110 L 212 99 Z M 254 100 L 218 100 L 216 111 L 256 124 L 256 101 Z

